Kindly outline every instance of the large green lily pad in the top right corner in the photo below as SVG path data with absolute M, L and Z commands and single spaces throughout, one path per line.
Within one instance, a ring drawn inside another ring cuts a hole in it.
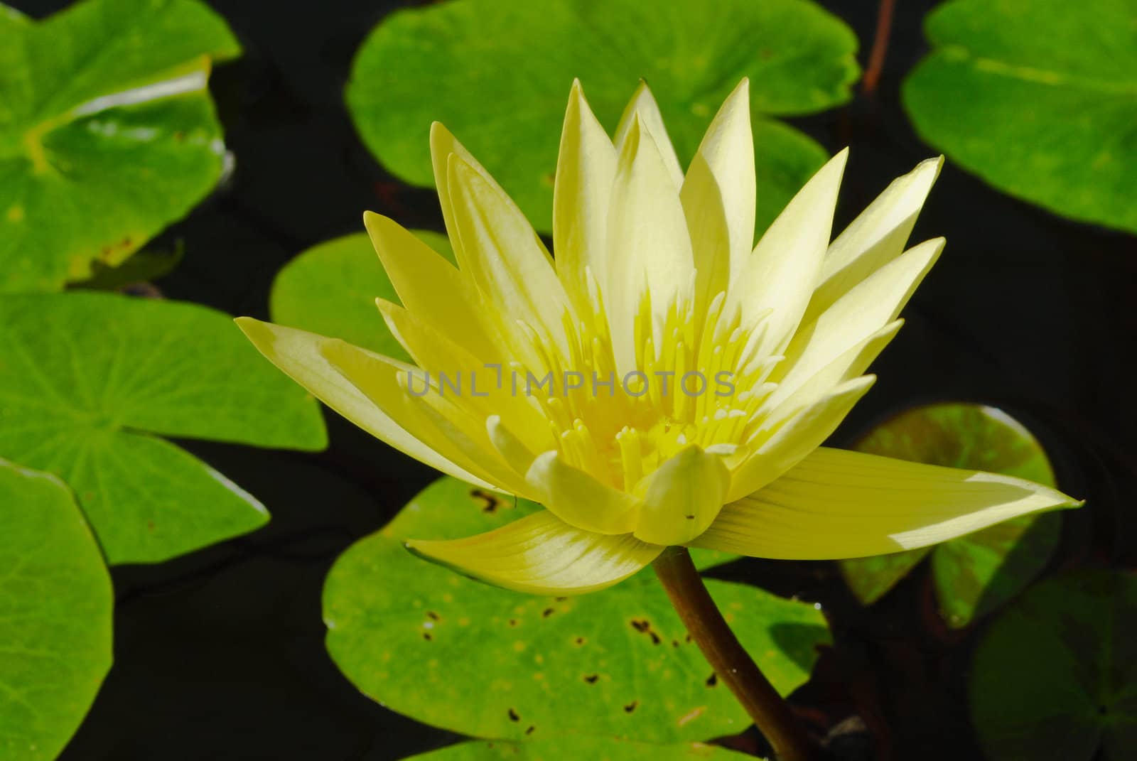
M 904 83 L 916 132 L 1004 192 L 1137 232 L 1135 13 L 1132 0 L 945 2 Z

